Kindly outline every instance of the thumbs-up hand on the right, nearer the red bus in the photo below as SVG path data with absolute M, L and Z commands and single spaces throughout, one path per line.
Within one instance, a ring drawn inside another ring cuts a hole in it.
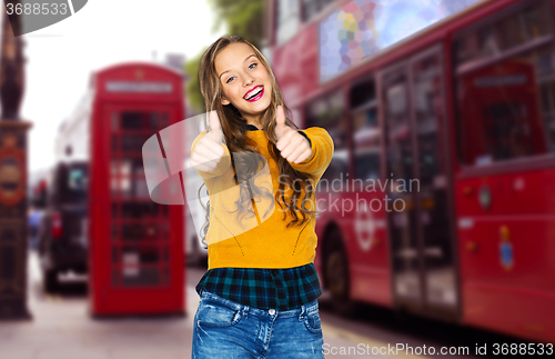
M 279 106 L 275 113 L 275 147 L 289 162 L 301 163 L 311 158 L 312 149 L 304 136 L 291 127 L 285 126 L 285 111 Z

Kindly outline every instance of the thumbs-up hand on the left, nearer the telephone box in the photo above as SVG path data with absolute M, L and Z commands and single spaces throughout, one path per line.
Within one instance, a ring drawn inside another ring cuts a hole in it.
M 199 140 L 191 153 L 191 166 L 203 172 L 212 172 L 225 154 L 222 147 L 224 136 L 216 111 L 210 111 L 209 123 L 206 134 Z

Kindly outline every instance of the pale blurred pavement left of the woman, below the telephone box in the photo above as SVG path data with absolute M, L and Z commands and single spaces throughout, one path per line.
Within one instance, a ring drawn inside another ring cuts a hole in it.
M 32 321 L 0 322 L 0 359 L 191 358 L 198 295 L 186 290 L 184 318 L 92 319 L 85 298 L 42 295 L 36 255 L 29 256 Z

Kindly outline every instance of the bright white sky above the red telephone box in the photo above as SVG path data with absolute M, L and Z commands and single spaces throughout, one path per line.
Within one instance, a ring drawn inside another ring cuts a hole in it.
M 224 32 L 204 1 L 90 0 L 70 18 L 23 34 L 26 89 L 20 117 L 29 132 L 29 170 L 54 163 L 60 123 L 84 94 L 91 71 L 123 61 L 192 58 Z

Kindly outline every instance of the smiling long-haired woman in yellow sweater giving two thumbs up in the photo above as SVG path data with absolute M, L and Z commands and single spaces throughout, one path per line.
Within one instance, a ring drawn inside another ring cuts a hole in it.
M 240 37 L 206 50 L 199 80 L 210 114 L 191 164 L 210 198 L 209 270 L 196 286 L 192 357 L 324 358 L 313 208 L 333 140 L 287 124 L 272 69 Z

